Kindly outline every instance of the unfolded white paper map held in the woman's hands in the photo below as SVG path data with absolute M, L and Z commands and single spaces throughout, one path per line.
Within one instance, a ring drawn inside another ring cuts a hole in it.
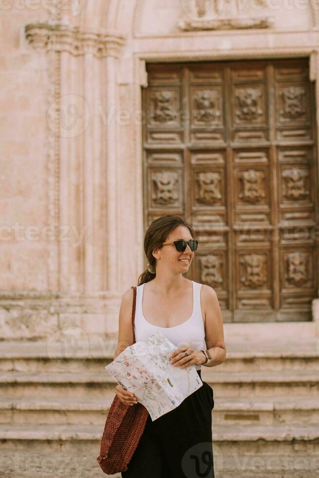
M 174 367 L 170 354 L 178 347 L 159 331 L 126 347 L 106 370 L 148 410 L 152 421 L 177 408 L 201 381 L 195 365 Z

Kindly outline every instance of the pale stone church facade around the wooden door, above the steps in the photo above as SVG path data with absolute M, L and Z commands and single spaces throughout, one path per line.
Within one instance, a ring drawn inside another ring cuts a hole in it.
M 308 57 L 319 97 L 315 1 L 62 3 L 1 7 L 0 339 L 117 334 L 144 269 L 146 62 Z M 318 310 L 225 336 L 318 337 Z

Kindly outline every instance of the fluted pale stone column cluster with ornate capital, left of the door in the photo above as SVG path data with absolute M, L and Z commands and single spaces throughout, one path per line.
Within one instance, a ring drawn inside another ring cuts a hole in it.
M 116 115 L 109 124 L 105 117 L 118 107 L 117 68 L 124 38 L 118 32 L 81 31 L 61 22 L 26 25 L 25 35 L 48 54 L 48 220 L 57 231 L 66 226 L 73 239 L 49 245 L 50 287 L 63 300 L 62 307 L 56 305 L 58 314 L 70 312 L 73 325 L 91 332 L 94 324 L 101 333 L 112 332 L 120 300 L 119 126 Z M 76 245 L 74 230 L 80 239 Z M 88 303 L 90 316 L 85 319 Z M 68 318 L 60 321 L 68 323 Z

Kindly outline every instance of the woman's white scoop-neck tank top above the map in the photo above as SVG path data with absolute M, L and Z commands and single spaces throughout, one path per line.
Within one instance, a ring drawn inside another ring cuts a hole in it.
M 145 339 L 150 334 L 159 330 L 168 340 L 177 347 L 188 344 L 194 350 L 206 350 L 205 328 L 200 308 L 200 288 L 199 282 L 193 283 L 193 313 L 191 317 L 174 327 L 159 327 L 149 323 L 142 310 L 142 299 L 144 284 L 136 288 L 136 310 L 135 310 L 135 339 L 136 341 Z M 200 370 L 201 365 L 195 365 L 196 370 Z

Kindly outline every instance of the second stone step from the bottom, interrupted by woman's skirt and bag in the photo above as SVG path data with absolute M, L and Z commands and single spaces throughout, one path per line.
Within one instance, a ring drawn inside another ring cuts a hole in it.
M 112 391 L 103 400 L 74 398 L 6 398 L 0 399 L 0 423 L 16 424 L 83 424 L 103 423 L 114 399 Z M 215 398 L 213 423 L 216 425 L 308 423 L 319 425 L 318 398 Z

